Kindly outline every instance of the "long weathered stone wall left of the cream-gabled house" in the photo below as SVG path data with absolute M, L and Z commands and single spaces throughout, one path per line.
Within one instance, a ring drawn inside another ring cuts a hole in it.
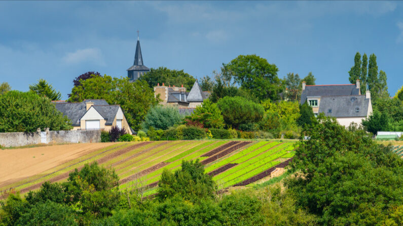
M 46 139 L 41 140 L 41 132 L 0 132 L 1 146 L 18 147 L 42 143 L 97 143 L 101 141 L 101 130 L 47 130 Z

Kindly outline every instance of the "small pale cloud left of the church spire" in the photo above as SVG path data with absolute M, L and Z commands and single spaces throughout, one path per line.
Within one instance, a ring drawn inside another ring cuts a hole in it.
M 62 60 L 66 64 L 95 63 L 104 65 L 101 50 L 98 48 L 87 48 L 77 50 L 74 53 L 67 53 Z

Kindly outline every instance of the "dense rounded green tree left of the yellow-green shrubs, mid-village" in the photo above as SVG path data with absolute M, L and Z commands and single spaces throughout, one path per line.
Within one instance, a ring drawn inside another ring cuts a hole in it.
M 241 124 L 259 122 L 263 118 L 262 105 L 242 97 L 224 97 L 217 102 L 227 125 L 238 128 Z

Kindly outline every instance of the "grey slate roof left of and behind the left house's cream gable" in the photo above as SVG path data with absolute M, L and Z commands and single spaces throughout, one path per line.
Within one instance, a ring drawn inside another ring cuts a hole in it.
M 53 104 L 56 106 L 58 111 L 70 119 L 72 125 L 79 126 L 81 117 L 83 117 L 83 115 L 87 112 L 87 102 L 93 102 L 94 105 L 108 105 L 108 103 L 102 99 L 86 99 L 83 102 L 77 103 L 53 102 Z

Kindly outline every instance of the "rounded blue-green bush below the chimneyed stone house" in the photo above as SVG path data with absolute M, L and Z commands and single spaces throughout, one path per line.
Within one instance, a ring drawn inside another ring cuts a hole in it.
M 184 118 L 179 114 L 177 108 L 172 106 L 156 105 L 145 115 L 141 127 L 148 130 L 150 127 L 155 129 L 167 129 L 170 126 L 178 124 Z

